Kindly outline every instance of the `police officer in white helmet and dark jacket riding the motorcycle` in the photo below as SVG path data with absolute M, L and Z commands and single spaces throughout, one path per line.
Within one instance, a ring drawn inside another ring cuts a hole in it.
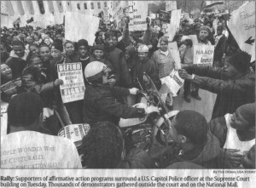
M 119 88 L 109 86 L 111 70 L 100 61 L 90 62 L 84 70 L 88 86 L 84 94 L 84 122 L 90 125 L 96 122 L 109 121 L 117 124 L 119 117 L 143 117 L 146 111 L 123 105 L 115 100 L 117 96 L 137 94 L 137 88 Z

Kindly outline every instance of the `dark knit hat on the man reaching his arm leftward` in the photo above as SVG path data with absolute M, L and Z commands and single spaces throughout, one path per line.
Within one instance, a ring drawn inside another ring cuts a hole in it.
M 245 73 L 250 66 L 251 55 L 246 52 L 239 52 L 230 57 L 229 63 L 232 66 L 235 66 L 237 71 Z

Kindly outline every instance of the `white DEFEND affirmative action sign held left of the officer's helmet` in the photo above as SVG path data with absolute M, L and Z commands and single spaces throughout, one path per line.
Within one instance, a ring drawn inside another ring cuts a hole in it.
M 58 65 L 58 77 L 63 80 L 60 86 L 63 103 L 84 99 L 84 77 L 81 63 Z

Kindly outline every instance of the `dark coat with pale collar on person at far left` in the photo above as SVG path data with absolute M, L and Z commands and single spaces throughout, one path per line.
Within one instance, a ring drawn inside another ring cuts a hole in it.
M 26 52 L 23 57 L 19 57 L 18 55 L 15 54 L 15 51 L 11 51 L 9 54 L 9 59 L 6 60 L 5 64 L 9 66 L 9 68 L 12 70 L 13 73 L 13 79 L 17 77 L 21 77 L 22 71 L 26 67 L 26 59 L 27 59 Z

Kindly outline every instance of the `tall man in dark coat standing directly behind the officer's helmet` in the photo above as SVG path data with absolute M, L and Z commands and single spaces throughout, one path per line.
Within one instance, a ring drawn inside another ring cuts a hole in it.
M 113 71 L 116 74 L 116 85 L 128 88 L 131 86 L 131 76 L 128 71 L 125 56 L 122 50 L 114 47 L 115 38 L 113 32 L 105 32 L 105 49 L 107 59 L 113 66 Z

